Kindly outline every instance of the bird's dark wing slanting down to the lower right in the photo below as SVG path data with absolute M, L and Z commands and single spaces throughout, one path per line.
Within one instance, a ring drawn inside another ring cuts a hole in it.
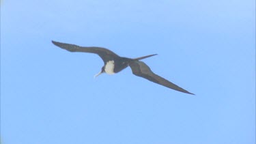
M 149 81 L 158 83 L 159 85 L 163 85 L 165 87 L 175 89 L 176 91 L 181 91 L 184 93 L 189 93 L 189 94 L 194 95 L 194 93 L 190 93 L 190 92 L 186 91 L 185 89 L 182 89 L 182 87 L 179 87 L 179 86 L 175 85 L 174 83 L 167 81 L 165 78 L 162 78 L 161 76 L 158 76 L 157 74 L 154 74 L 154 72 L 152 72 L 152 70 L 150 70 L 150 67 L 148 67 L 142 61 L 130 61 L 129 66 L 132 69 L 132 74 L 135 74 L 136 76 L 141 76 L 143 78 L 146 78 Z

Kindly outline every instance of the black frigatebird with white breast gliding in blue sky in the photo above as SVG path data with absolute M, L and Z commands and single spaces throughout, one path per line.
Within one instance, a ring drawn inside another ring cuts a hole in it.
M 124 70 L 128 66 L 130 66 L 132 70 L 132 74 L 136 76 L 140 76 L 142 78 L 147 79 L 148 81 L 152 81 L 154 83 L 168 87 L 170 89 L 174 89 L 176 91 L 195 95 L 194 93 L 190 93 L 189 91 L 183 89 L 182 87 L 179 87 L 174 83 L 171 83 L 167 79 L 162 78 L 161 76 L 158 76 L 157 74 L 152 72 L 150 67 L 147 66 L 143 61 L 140 61 L 141 59 L 152 57 L 157 54 L 146 55 L 143 57 L 137 57 L 137 58 L 131 59 L 127 57 L 120 57 L 119 55 L 113 53 L 113 51 L 110 51 L 107 48 L 102 48 L 97 46 L 77 46 L 75 44 L 55 42 L 53 40 L 52 42 L 53 44 L 55 44 L 55 46 L 58 46 L 59 48 L 63 48 L 70 52 L 94 53 L 99 55 L 101 59 L 104 61 L 104 66 L 102 66 L 100 72 L 96 74 L 94 77 L 99 76 L 102 73 L 116 74 Z

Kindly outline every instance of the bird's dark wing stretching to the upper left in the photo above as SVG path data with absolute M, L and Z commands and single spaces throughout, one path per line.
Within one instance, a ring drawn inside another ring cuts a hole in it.
M 113 53 L 113 51 L 109 51 L 106 48 L 100 48 L 100 47 L 83 47 L 83 46 L 76 46 L 74 44 L 66 44 L 62 42 L 55 42 L 52 41 L 55 46 L 59 46 L 60 48 L 66 49 L 70 52 L 84 52 L 84 53 L 95 53 L 98 54 L 104 63 L 109 60 L 113 60 L 113 57 L 119 57 L 117 54 Z

